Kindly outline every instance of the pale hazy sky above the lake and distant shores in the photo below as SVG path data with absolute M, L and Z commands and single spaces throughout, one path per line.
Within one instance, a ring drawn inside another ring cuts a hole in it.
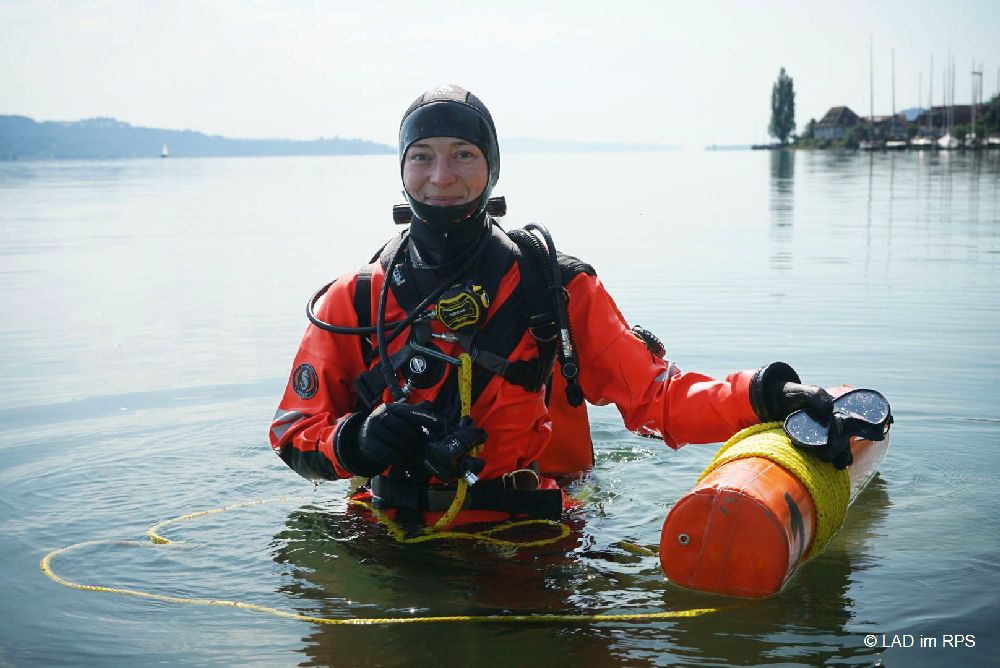
M 771 84 L 802 128 L 830 106 L 997 90 L 1000 0 L 492 2 L 0 0 L 0 113 L 113 116 L 230 137 L 393 144 L 423 90 L 479 95 L 503 137 L 702 146 L 763 141 Z

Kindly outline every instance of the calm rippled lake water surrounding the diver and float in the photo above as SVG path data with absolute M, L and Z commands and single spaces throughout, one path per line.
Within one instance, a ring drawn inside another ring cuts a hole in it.
M 322 626 L 47 579 L 50 550 L 107 540 L 55 569 L 338 618 L 729 602 L 618 545 L 659 542 L 715 447 L 670 451 L 613 407 L 592 410 L 574 533 L 518 552 L 400 546 L 345 515 L 346 482 L 274 456 L 305 300 L 394 232 L 398 190 L 393 156 L 0 163 L 0 664 L 1000 664 L 1000 151 L 505 156 L 505 224 L 547 225 L 681 368 L 780 359 L 892 402 L 879 475 L 774 597 L 654 623 Z M 274 497 L 302 498 L 113 542 Z

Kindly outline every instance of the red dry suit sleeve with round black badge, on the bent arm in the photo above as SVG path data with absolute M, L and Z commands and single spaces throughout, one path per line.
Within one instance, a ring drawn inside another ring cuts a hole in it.
M 317 317 L 356 327 L 356 282 L 356 275 L 337 279 L 318 305 Z M 309 325 L 269 433 L 274 451 L 303 477 L 332 480 L 351 476 L 334 455 L 333 437 L 354 410 L 351 383 L 363 370 L 360 337 L 332 334 Z

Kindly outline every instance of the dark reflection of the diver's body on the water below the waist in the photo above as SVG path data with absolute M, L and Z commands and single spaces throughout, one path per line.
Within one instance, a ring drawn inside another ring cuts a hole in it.
M 292 580 L 281 591 L 309 600 L 311 614 L 325 617 L 546 614 L 573 612 L 576 585 L 593 575 L 572 558 L 581 542 L 581 522 L 567 538 L 543 547 L 460 542 L 401 545 L 390 541 L 366 513 L 330 514 L 308 508 L 293 512 L 274 539 L 274 559 L 291 565 Z M 551 533 L 551 529 L 548 530 Z M 534 540 L 535 532 L 505 538 Z M 436 665 L 496 661 L 490 638 L 503 641 L 511 625 L 451 623 L 382 626 L 377 645 L 357 654 L 357 627 L 316 626 L 301 649 L 306 665 L 403 665 L 433 657 Z M 553 634 L 551 627 L 517 626 L 519 640 L 504 650 L 506 661 L 556 661 L 560 657 L 607 663 L 607 639 L 586 625 Z M 485 634 L 485 637 L 482 637 Z M 390 648 L 405 648 L 398 655 Z

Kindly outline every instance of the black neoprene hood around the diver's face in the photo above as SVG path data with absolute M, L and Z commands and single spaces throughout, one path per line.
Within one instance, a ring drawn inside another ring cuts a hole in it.
M 479 147 L 489 167 L 489 179 L 476 199 L 456 206 L 431 206 L 414 199 L 404 189 L 417 218 L 433 226 L 446 226 L 475 218 L 486 208 L 493 186 L 500 178 L 500 147 L 496 126 L 486 105 L 469 91 L 446 84 L 432 88 L 410 105 L 399 124 L 399 171 L 403 173 L 406 150 L 428 137 L 457 137 Z

